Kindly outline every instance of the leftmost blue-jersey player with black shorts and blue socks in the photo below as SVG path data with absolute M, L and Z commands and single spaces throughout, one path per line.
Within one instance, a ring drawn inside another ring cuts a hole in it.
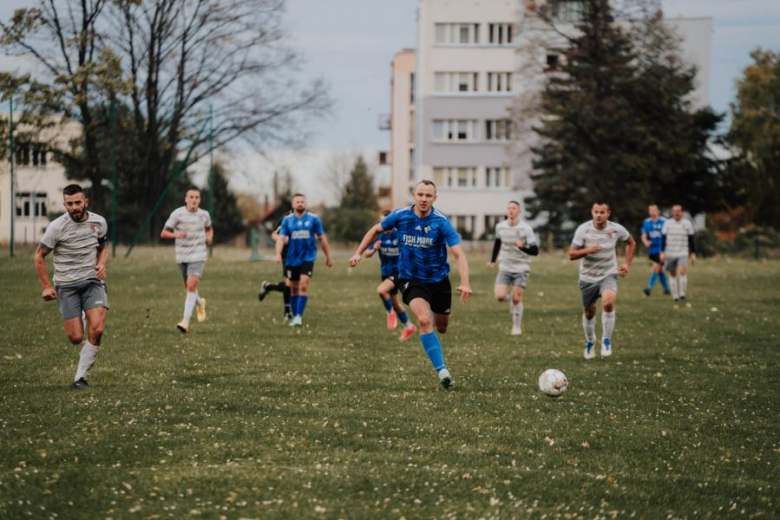
M 287 244 L 284 268 L 290 282 L 290 307 L 293 318 L 290 327 L 303 325 L 303 311 L 309 299 L 309 280 L 314 274 L 317 258 L 317 242 L 325 253 L 325 265 L 333 267 L 330 245 L 320 218 L 306 210 L 306 197 L 296 193 L 292 198 L 292 215 L 284 217 L 276 240 L 276 262 L 282 261 L 282 250 Z

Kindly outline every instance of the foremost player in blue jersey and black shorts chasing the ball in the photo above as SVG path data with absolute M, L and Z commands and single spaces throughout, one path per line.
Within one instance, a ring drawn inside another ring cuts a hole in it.
M 450 266 L 447 263 L 447 246 L 458 263 L 460 273 L 461 303 L 471 296 L 469 263 L 461 246 L 460 236 L 449 219 L 433 207 L 436 202 L 436 185 L 422 180 L 414 187 L 414 204 L 396 210 L 379 224 L 368 230 L 349 265 L 355 267 L 363 252 L 376 241 L 383 231 L 398 232 L 400 254 L 398 258 L 398 282 L 404 303 L 412 309 L 420 327 L 422 342 L 428 359 L 444 388 L 452 386 L 452 376 L 444 363 L 441 343 L 434 331 L 447 332 L 450 318 L 452 288 Z

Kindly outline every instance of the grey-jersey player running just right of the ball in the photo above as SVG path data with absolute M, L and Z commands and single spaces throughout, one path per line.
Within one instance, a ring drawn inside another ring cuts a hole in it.
M 569 259 L 580 261 L 580 293 L 584 311 L 585 359 L 596 357 L 596 304 L 601 298 L 601 355 L 612 355 L 612 331 L 615 330 L 615 301 L 618 275 L 626 276 L 634 260 L 636 241 L 620 224 L 610 222 L 609 204 L 595 202 L 590 210 L 593 220 L 574 233 Z M 628 242 L 626 259 L 618 268 L 617 241 Z

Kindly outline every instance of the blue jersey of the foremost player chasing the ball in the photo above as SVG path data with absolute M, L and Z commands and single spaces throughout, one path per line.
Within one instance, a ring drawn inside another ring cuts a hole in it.
M 398 232 L 400 254 L 398 277 L 422 283 L 443 280 L 450 272 L 447 246 L 460 244 L 460 236 L 441 211 L 431 208 L 425 218 L 414 213 L 414 206 L 398 209 L 382 221 L 382 229 Z

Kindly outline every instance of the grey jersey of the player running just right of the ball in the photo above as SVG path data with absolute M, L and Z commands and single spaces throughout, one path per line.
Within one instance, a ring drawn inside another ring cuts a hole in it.
M 571 241 L 574 247 L 582 249 L 601 245 L 595 253 L 580 258 L 580 281 L 596 283 L 609 275 L 618 274 L 617 241 L 625 242 L 629 238 L 631 234 L 626 228 L 609 220 L 604 229 L 596 229 L 592 220 L 578 227 Z

